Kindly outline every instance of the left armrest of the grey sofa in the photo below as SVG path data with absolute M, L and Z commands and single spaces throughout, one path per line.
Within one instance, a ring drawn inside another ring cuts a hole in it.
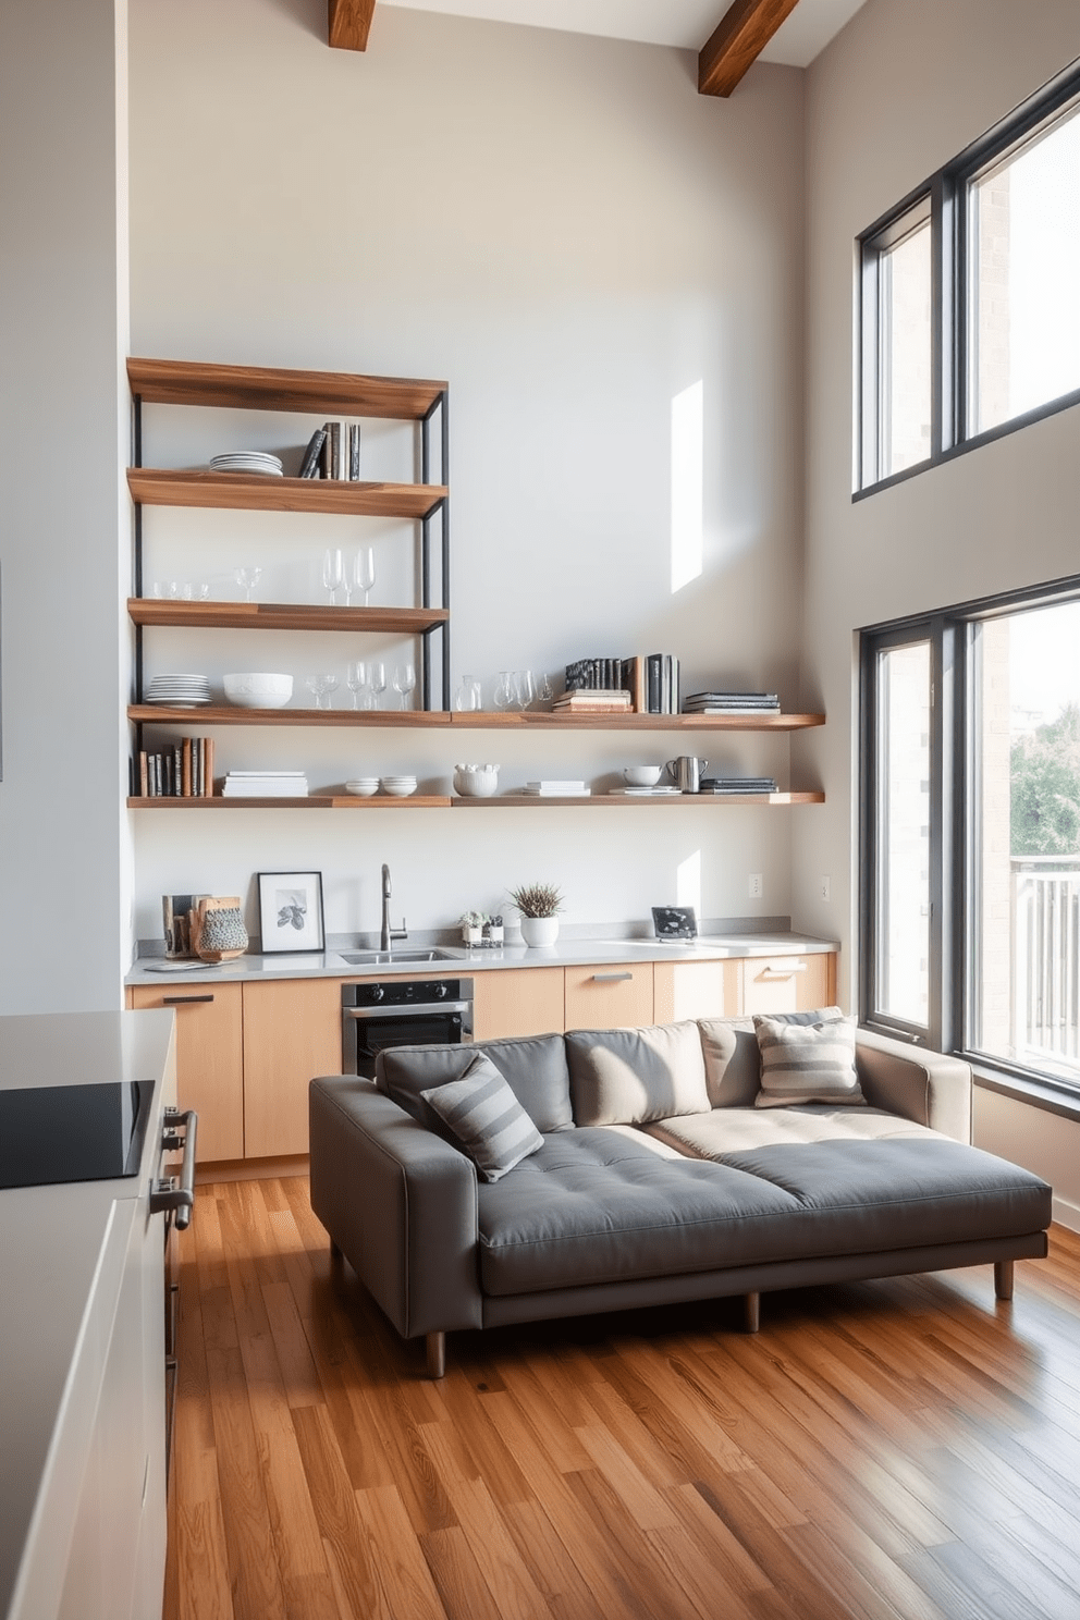
M 476 1168 L 356 1076 L 309 1087 L 311 1207 L 405 1338 L 481 1327 Z

